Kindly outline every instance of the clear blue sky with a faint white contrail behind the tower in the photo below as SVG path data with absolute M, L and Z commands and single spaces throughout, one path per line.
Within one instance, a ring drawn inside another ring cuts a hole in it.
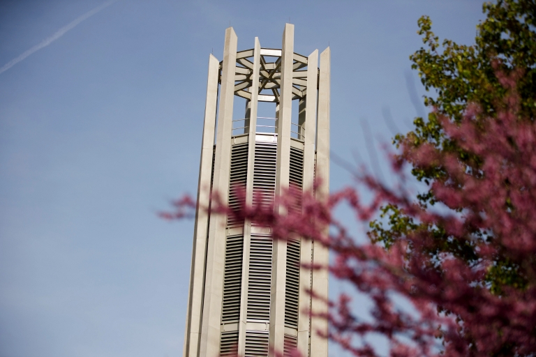
M 0 2 L 0 68 L 105 1 Z M 156 211 L 195 194 L 209 53 L 332 48 L 332 150 L 370 165 L 411 128 L 417 19 L 470 44 L 475 0 L 119 0 L 0 73 L 0 357 L 180 356 L 193 222 Z M 332 165 L 332 189 L 351 183 Z M 332 284 L 336 293 L 336 284 Z M 336 350 L 333 349 L 333 352 Z

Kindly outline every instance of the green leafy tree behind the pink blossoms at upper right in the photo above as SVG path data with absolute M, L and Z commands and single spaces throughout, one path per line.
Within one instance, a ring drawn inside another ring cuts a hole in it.
M 475 176 L 481 174 L 482 160 L 447 139 L 440 117 L 459 123 L 468 105 L 474 103 L 479 107 L 479 125 L 486 126 L 486 121 L 497 120 L 496 114 L 504 108 L 503 98 L 507 93 L 496 74 L 508 76 L 514 70 L 521 74 L 516 88 L 520 100 L 519 118 L 534 121 L 536 114 L 536 1 L 498 0 L 484 3 L 483 12 L 486 19 L 477 24 L 475 45 L 459 45 L 452 40 L 440 43 L 431 29 L 431 19 L 427 16 L 419 19 L 418 33 L 424 47 L 412 54 L 410 60 L 424 88 L 431 93 L 424 96 L 424 105 L 433 111 L 426 119 L 416 118 L 414 130 L 394 138 L 397 147 L 409 145 L 417 149 L 422 144 L 432 144 L 444 153 L 454 153 L 466 166 L 466 173 Z M 407 159 L 413 165 L 412 174 L 429 187 L 438 179 L 456 182 L 442 165 L 424 166 L 414 158 Z M 417 195 L 417 200 L 423 208 L 436 203 L 431 189 Z M 506 199 L 505 210 L 511 209 L 515 208 Z M 450 252 L 468 264 L 477 264 L 474 245 L 448 236 L 442 227 L 415 222 L 393 204 L 383 206 L 381 213 L 380 220 L 370 223 L 372 241 L 388 248 L 409 232 L 426 230 L 435 238 L 435 244 L 429 248 L 430 255 Z M 493 239 L 493 232 L 475 228 L 473 234 L 480 240 Z M 494 294 L 501 294 L 501 287 L 505 285 L 526 287 L 523 268 L 500 255 L 486 280 Z

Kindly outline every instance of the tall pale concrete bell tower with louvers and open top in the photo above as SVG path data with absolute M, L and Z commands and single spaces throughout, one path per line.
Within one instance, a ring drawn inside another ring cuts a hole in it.
M 230 27 L 223 61 L 209 56 L 184 357 L 273 356 L 295 348 L 327 357 L 327 340 L 316 333 L 327 333 L 327 321 L 304 313 L 326 311 L 306 290 L 327 297 L 327 272 L 300 267 L 327 264 L 325 246 L 272 241 L 268 227 L 209 215 L 206 207 L 211 192 L 237 206 L 238 186 L 246 204 L 271 206 L 290 186 L 312 190 L 315 176 L 322 179 L 315 197 L 327 199 L 329 82 L 329 47 L 320 58 L 318 50 L 295 53 L 292 24 L 285 24 L 281 50 L 255 38 L 252 49 L 237 52 Z M 245 109 L 233 108 L 236 96 Z M 261 105 L 273 114 L 259 116 Z

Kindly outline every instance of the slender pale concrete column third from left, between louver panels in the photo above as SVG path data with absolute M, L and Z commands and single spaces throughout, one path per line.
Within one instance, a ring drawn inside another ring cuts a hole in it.
M 253 47 L 253 73 L 251 74 L 251 100 L 248 101 L 248 174 L 246 176 L 246 205 L 253 204 L 253 167 L 255 165 L 255 131 L 259 96 L 260 43 L 255 37 Z M 248 307 L 249 248 L 251 245 L 251 221 L 244 222 L 244 259 L 242 261 L 242 284 L 240 297 L 240 321 L 238 324 L 238 355 L 244 356 L 246 347 L 246 324 Z

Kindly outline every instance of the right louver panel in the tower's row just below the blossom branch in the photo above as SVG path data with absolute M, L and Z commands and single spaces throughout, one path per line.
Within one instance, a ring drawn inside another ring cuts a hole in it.
M 298 328 L 299 313 L 299 240 L 287 241 L 285 280 L 285 326 Z

